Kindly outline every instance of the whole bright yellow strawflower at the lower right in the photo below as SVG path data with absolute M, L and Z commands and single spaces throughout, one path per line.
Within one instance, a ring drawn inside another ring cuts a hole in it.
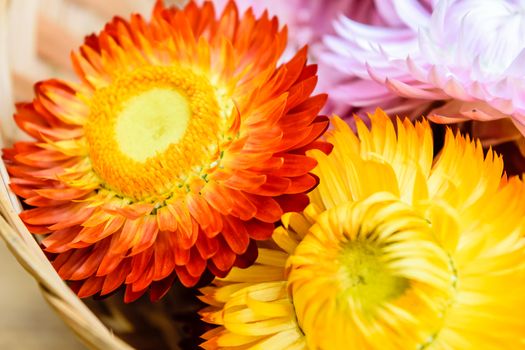
M 202 290 L 204 348 L 525 348 L 524 183 L 468 137 L 434 158 L 428 122 L 371 120 L 334 120 L 310 205 Z

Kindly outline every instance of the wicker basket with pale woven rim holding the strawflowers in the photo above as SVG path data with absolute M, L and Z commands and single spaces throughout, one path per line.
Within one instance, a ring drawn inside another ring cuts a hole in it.
M 31 100 L 32 84 L 38 80 L 74 79 L 69 52 L 79 46 L 84 34 L 100 30 L 113 15 L 147 15 L 153 3 L 154 0 L 0 0 L 0 146 L 25 137 L 13 122 L 13 101 Z M 80 300 L 60 279 L 19 219 L 20 202 L 10 192 L 5 165 L 0 163 L 0 235 L 37 281 L 45 299 L 82 342 L 93 349 L 178 348 L 187 318 L 197 318 L 198 306 L 191 292 L 175 287 L 157 304 L 139 300 L 124 305 L 121 295 L 104 301 Z M 175 303 L 181 299 L 190 302 Z M 194 327 L 193 330 L 198 331 Z

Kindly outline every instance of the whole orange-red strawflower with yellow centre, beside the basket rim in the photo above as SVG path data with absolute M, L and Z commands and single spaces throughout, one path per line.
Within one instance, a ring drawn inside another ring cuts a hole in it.
M 125 284 L 159 299 L 257 255 L 317 184 L 305 155 L 330 146 L 306 49 L 277 66 L 286 29 L 230 2 L 161 1 L 115 18 L 72 60 L 81 83 L 35 85 L 16 122 L 36 140 L 4 151 L 20 216 L 80 297 Z

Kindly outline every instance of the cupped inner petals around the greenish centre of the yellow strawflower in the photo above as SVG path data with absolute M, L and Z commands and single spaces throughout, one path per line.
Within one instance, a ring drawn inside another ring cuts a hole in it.
M 425 346 L 455 294 L 449 256 L 430 222 L 388 193 L 317 215 L 287 266 L 312 348 L 380 349 L 406 334 L 407 348 Z

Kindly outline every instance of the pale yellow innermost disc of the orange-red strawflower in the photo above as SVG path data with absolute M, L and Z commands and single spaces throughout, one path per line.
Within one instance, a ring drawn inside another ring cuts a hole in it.
M 180 93 L 151 89 L 125 103 L 115 126 L 117 142 L 125 155 L 144 162 L 182 139 L 190 115 Z

